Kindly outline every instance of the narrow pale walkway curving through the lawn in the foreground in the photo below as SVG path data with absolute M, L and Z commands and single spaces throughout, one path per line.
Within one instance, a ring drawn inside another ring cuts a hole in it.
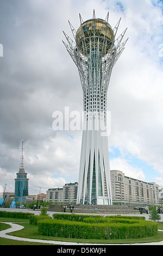
M 15 224 L 12 222 L 2 222 L 11 225 L 11 228 L 5 229 L 0 231 L 0 237 L 12 239 L 12 240 L 18 240 L 18 241 L 27 241 L 27 242 L 40 242 L 40 243 L 52 243 L 53 245 L 115 245 L 115 244 L 99 244 L 99 243 L 77 243 L 77 242 L 60 242 L 60 241 L 51 241 L 51 240 L 41 240 L 41 239 L 29 239 L 29 238 L 23 238 L 23 237 L 17 237 L 13 235 L 7 235 L 7 233 L 18 231 L 23 229 L 24 227 L 21 224 Z M 163 231 L 163 230 L 159 230 Z M 119 245 L 119 244 L 116 244 Z M 122 244 L 121 244 L 122 245 Z M 123 244 L 123 245 L 130 245 L 130 244 Z M 163 245 L 163 241 L 161 242 L 152 242 L 152 243 L 133 243 L 132 245 Z

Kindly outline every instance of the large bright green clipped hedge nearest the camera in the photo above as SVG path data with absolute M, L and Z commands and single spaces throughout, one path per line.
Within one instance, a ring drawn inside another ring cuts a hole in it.
M 90 217 L 90 216 L 89 216 Z M 40 220 L 37 222 L 40 235 L 76 239 L 137 239 L 154 236 L 158 224 L 140 220 L 137 223 L 86 223 L 68 220 Z

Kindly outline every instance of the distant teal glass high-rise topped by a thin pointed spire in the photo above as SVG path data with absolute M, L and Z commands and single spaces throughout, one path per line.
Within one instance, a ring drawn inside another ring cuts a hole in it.
M 21 149 L 21 162 L 19 172 L 16 173 L 15 179 L 15 197 L 16 202 L 23 202 L 28 197 L 28 178 L 27 173 L 24 170 L 24 156 L 23 156 L 23 141 Z

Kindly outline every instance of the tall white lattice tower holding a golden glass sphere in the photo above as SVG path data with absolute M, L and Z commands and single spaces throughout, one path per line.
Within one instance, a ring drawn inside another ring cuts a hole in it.
M 115 40 L 114 29 L 105 20 L 96 19 L 95 10 L 90 20 L 76 31 L 70 24 L 74 41 L 64 32 L 68 53 L 77 65 L 83 88 L 84 129 L 80 155 L 77 204 L 112 205 L 108 137 L 106 127 L 106 101 L 111 71 L 124 50 L 125 31 Z

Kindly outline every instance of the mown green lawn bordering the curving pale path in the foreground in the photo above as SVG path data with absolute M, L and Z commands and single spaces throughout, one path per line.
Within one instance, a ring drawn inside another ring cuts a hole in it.
M 3 219 L 3 220 L 2 220 Z M 0 218 L 0 221 L 3 222 L 16 222 L 16 219 L 14 221 L 11 221 L 11 218 Z M 26 222 L 24 222 L 26 221 Z M 53 240 L 53 241 L 65 241 L 65 242 L 78 242 L 78 243 L 147 243 L 147 242 L 159 242 L 163 240 L 163 232 L 158 231 L 158 234 L 151 237 L 144 237 L 141 239 L 118 239 L 118 240 L 95 240 L 95 239 L 66 239 L 62 237 L 52 237 L 52 236 L 43 236 L 37 234 L 37 226 L 29 224 L 29 220 L 18 220 L 17 222 L 24 222 L 20 223 L 23 225 L 23 229 L 14 231 L 12 233 L 9 233 L 8 235 L 14 235 L 18 237 L 26 237 L 30 239 L 42 239 L 42 240 Z M 4 223 L 1 223 L 4 224 Z M 8 228 L 7 226 L 2 227 L 0 225 L 0 229 Z M 163 222 L 158 223 L 158 229 L 163 230 Z M 1 229 L 2 230 L 2 229 Z M 36 242 L 25 242 L 25 241 L 16 241 L 16 240 L 10 240 L 10 239 L 0 239 L 0 245 L 48 245 L 48 243 L 36 243 Z

